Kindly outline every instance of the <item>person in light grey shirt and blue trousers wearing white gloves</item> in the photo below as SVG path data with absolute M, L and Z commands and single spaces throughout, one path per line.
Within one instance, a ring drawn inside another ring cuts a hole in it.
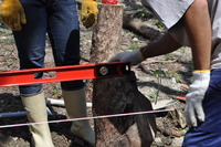
M 141 0 L 168 32 L 149 45 L 122 52 L 109 62 L 136 65 L 157 55 L 188 45 L 192 51 L 192 84 L 186 95 L 185 114 L 190 129 L 183 147 L 219 147 L 221 145 L 221 1 Z

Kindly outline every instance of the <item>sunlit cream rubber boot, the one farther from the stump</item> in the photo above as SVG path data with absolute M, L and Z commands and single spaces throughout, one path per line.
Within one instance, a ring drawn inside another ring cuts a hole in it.
M 30 123 L 48 122 L 46 103 L 44 93 L 34 96 L 21 96 Z M 48 124 L 34 124 L 29 126 L 34 147 L 54 147 Z

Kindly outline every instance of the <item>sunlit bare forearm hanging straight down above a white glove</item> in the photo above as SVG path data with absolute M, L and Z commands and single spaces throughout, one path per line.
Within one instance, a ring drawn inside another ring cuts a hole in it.
M 211 56 L 211 24 L 207 0 L 194 0 L 185 14 L 194 70 L 209 70 Z

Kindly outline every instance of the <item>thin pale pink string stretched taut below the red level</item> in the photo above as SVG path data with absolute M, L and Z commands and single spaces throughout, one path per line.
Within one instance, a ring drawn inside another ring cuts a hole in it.
M 13 124 L 13 125 L 0 125 L 0 128 L 30 126 L 30 125 L 48 124 L 48 123 L 49 123 L 49 124 L 52 124 L 52 123 L 62 123 L 62 122 L 75 122 L 75 120 L 87 120 L 87 119 L 109 118 L 109 117 L 119 117 L 119 116 L 129 116 L 129 115 L 140 115 L 140 114 L 164 113 L 164 112 L 172 112 L 172 111 L 175 111 L 175 109 L 173 109 L 173 108 L 171 108 L 171 109 L 158 109 L 158 111 L 147 111 L 147 112 L 135 112 L 135 113 L 125 113 L 125 114 L 101 115 L 101 116 L 92 116 L 92 117 L 59 119 L 59 120 L 38 122 L 38 123 L 24 123 L 24 124 Z

